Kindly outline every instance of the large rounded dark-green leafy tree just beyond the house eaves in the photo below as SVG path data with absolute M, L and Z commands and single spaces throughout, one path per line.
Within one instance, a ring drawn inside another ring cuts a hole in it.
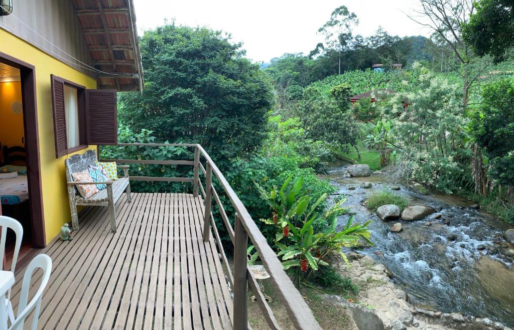
M 219 31 L 168 24 L 145 31 L 140 46 L 145 88 L 121 95 L 122 123 L 160 141 L 200 143 L 215 159 L 259 150 L 271 85 L 241 44 Z

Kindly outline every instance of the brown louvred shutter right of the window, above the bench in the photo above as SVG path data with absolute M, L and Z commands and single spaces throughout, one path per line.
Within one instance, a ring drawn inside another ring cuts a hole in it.
M 87 144 L 117 144 L 116 91 L 86 89 Z

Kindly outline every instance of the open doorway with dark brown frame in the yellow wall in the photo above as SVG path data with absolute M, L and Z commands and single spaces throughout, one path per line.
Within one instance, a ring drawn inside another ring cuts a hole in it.
M 19 261 L 46 243 L 37 123 L 34 68 L 0 53 L 0 213 L 23 226 Z M 12 232 L 6 243 L 9 260 Z

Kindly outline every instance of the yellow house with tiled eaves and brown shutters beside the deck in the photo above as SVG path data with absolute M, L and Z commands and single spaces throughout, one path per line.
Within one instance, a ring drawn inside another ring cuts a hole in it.
M 4 215 L 28 210 L 30 245 L 44 247 L 70 221 L 64 160 L 116 144 L 116 92 L 142 89 L 134 6 L 3 3 L 12 10 L 0 8 L 0 122 L 10 127 L 0 132 L 2 165 L 21 169 L 15 191 L 0 183 L 0 195 Z

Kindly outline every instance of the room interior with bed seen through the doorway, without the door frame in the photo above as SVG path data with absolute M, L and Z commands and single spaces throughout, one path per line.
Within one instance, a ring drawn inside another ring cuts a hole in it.
M 32 242 L 20 70 L 0 63 L 0 201 L 2 215 L 23 226 L 23 246 Z M 7 243 L 14 243 L 7 232 Z M 23 249 L 23 247 L 22 247 Z M 9 248 L 6 249 L 9 254 Z M 22 253 L 22 251 L 21 251 Z

